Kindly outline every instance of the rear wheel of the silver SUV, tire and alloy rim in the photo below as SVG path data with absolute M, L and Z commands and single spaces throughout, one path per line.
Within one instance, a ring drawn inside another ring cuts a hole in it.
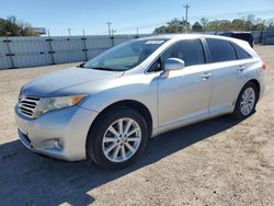
M 244 96 L 248 96 L 248 93 L 251 92 L 250 99 L 244 100 Z M 255 111 L 255 106 L 259 99 L 259 89 L 253 82 L 248 82 L 241 89 L 241 92 L 237 99 L 233 116 L 243 119 L 252 115 Z M 246 103 L 244 103 L 246 102 Z M 246 108 L 243 108 L 246 105 Z M 247 106 L 249 105 L 249 106 Z

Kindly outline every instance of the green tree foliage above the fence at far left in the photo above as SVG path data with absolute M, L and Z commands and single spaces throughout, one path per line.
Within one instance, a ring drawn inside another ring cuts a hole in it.
M 7 20 L 0 19 L 0 36 L 35 36 L 28 23 L 16 20 L 15 16 L 9 16 Z

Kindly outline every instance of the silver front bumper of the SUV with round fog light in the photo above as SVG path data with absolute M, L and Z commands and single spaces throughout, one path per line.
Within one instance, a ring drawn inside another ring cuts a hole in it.
M 14 108 L 18 134 L 30 150 L 49 157 L 77 161 L 85 159 L 85 140 L 98 112 L 71 106 L 50 111 L 36 119 Z

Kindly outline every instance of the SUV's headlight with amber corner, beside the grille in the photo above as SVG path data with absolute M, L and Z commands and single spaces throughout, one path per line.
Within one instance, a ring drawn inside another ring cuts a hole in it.
M 60 96 L 60 98 L 43 98 L 38 103 L 33 117 L 37 118 L 42 114 L 45 114 L 49 111 L 64 108 L 68 106 L 73 106 L 80 103 L 87 94 L 81 95 L 71 95 L 71 96 Z

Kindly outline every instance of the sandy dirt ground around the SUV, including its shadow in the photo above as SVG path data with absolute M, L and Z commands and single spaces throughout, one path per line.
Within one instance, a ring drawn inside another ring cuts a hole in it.
M 0 71 L 0 205 L 273 205 L 274 46 L 255 49 L 267 64 L 267 88 L 254 115 L 161 135 L 136 164 L 116 172 L 43 158 L 18 140 L 20 88 L 71 65 Z

